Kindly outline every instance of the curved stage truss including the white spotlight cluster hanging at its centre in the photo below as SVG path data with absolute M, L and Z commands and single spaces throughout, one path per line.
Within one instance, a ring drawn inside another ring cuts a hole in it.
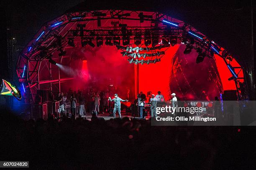
M 238 96 L 242 96 L 239 82 L 244 79 L 240 76 L 243 69 L 233 67 L 229 63 L 233 57 L 191 25 L 158 12 L 101 10 L 66 13 L 38 30 L 20 53 L 17 63 L 16 71 L 26 102 L 33 102 L 36 90 L 41 89 L 43 84 L 50 84 L 51 90 L 52 86 L 56 86 L 60 91 L 63 82 L 73 79 L 61 77 L 60 70 L 53 70 L 49 60 L 58 60 L 59 63 L 70 61 L 77 56 L 65 55 L 68 49 L 74 46 L 102 46 L 104 42 L 108 46 L 116 46 L 120 57 L 127 57 L 130 64 L 161 62 L 161 58 L 166 57 L 164 51 L 177 43 L 186 45 L 185 50 L 195 49 L 200 54 L 197 62 L 202 62 L 200 58 L 214 60 L 215 55 L 220 56 L 233 75 L 230 79 L 236 84 Z M 146 43 L 149 44 L 145 46 Z M 42 69 L 48 72 L 49 79 L 39 78 L 40 74 L 45 74 Z M 56 73 L 57 79 L 52 76 Z

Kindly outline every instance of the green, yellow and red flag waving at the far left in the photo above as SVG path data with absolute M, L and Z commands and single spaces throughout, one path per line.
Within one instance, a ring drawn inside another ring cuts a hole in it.
M 3 79 L 2 86 L 1 86 L 1 93 L 2 95 L 14 96 L 16 99 L 21 100 L 22 96 L 18 88 L 14 85 L 10 84 L 10 82 Z

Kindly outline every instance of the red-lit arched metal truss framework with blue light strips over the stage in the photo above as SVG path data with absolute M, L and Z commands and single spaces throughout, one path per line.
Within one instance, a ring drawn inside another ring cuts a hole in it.
M 175 22 L 178 24 L 178 27 L 165 25 L 163 24 L 163 20 Z M 139 22 L 141 25 L 129 25 L 126 21 Z M 193 33 L 203 38 L 191 37 L 191 35 L 189 36 L 189 31 L 193 31 Z M 80 37 L 81 41 L 83 39 L 95 41 L 97 38 L 102 38 L 102 40 L 109 38 L 113 41 L 115 37 L 119 37 L 120 41 L 127 38 L 131 40 L 134 38 L 145 39 L 148 37 L 157 39 L 176 38 L 209 58 L 213 58 L 212 54 L 214 52 L 211 49 L 211 45 L 220 49 L 216 43 L 206 38 L 206 36 L 198 32 L 191 25 L 163 13 L 128 10 L 66 13 L 45 23 L 38 30 L 34 39 L 20 53 L 16 72 L 23 86 L 23 92 L 26 94 L 26 103 L 33 102 L 36 90 L 40 89 L 41 84 L 48 83 L 50 84 L 49 89 L 52 89 L 52 86 L 57 83 L 57 87 L 60 90 L 61 82 L 72 79 L 72 77 L 61 78 L 60 73 L 58 79 L 53 79 L 52 65 L 48 62 L 48 59 L 55 51 L 61 51 L 62 48 L 69 48 L 67 45 L 68 39 L 76 37 Z M 132 42 L 128 46 L 131 45 Z M 220 53 L 215 52 L 215 54 L 221 56 Z M 221 57 L 225 61 L 225 57 Z M 60 63 L 63 59 L 71 61 L 71 55 L 61 56 Z M 226 61 L 225 63 L 228 65 Z M 40 69 L 45 67 L 48 68 L 50 77 L 48 80 L 42 81 L 39 78 Z M 234 79 L 234 81 L 236 82 L 238 94 L 241 94 L 241 88 L 237 79 Z

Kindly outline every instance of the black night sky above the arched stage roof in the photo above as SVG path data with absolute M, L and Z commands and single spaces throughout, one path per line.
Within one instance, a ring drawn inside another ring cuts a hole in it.
M 81 2 L 83 0 L 8 1 L 5 8 L 7 23 L 13 30 L 18 45 L 26 46 L 46 21 L 52 20 Z M 245 62 L 251 61 L 250 5 L 250 0 L 91 0 L 78 6 L 87 10 L 148 9 L 169 13 L 172 17 L 194 26 L 233 55 L 239 56 L 241 62 Z

